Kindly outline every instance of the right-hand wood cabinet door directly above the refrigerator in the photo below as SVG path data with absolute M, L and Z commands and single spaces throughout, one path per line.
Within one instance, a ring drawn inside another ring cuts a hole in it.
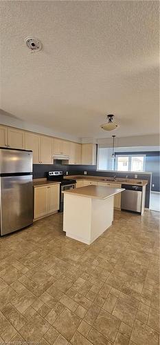
M 8 146 L 10 148 L 25 148 L 25 132 L 8 127 Z

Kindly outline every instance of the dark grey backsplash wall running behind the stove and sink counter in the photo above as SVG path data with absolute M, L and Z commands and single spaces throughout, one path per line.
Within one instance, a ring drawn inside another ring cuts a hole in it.
M 33 178 L 34 179 L 41 179 L 43 177 L 47 177 L 47 171 L 54 171 L 54 170 L 62 170 L 65 175 L 66 172 L 69 172 L 69 175 L 83 175 L 84 171 L 87 171 L 87 175 L 89 176 L 108 176 L 108 177 L 122 177 L 126 178 L 128 175 L 128 179 L 135 179 L 135 174 L 132 172 L 115 172 L 115 171 L 97 171 L 97 166 L 78 166 L 78 165 L 61 165 L 61 164 L 34 164 L 33 165 Z M 146 204 L 145 207 L 149 208 L 150 204 L 150 183 L 151 183 L 151 175 L 150 174 L 138 174 L 137 179 L 146 179 L 148 180 L 148 185 L 146 186 Z

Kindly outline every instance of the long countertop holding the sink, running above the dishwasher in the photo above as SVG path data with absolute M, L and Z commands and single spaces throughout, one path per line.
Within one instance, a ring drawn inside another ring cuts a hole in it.
M 134 186 L 146 186 L 148 181 L 146 179 L 124 179 L 117 177 L 115 181 L 111 177 L 105 176 L 89 176 L 89 175 L 68 175 L 64 177 L 65 179 L 87 179 L 89 181 L 99 181 L 112 184 L 133 184 Z

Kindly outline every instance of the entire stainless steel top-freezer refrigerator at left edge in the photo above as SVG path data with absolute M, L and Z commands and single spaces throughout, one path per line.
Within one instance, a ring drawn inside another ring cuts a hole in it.
M 32 151 L 0 148 L 1 236 L 32 223 Z

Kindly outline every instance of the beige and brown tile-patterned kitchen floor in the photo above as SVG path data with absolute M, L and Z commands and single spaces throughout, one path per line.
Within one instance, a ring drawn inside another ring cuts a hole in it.
M 0 344 L 157 345 L 159 213 L 115 213 L 91 246 L 62 214 L 0 239 Z

